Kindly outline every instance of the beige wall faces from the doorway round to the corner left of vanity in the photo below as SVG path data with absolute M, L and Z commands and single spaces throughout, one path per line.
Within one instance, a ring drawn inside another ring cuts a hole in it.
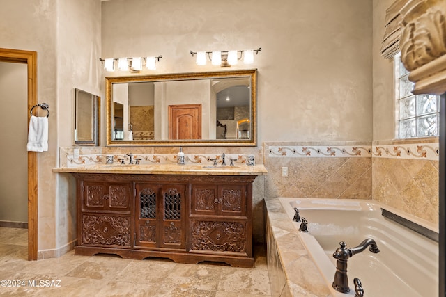
M 49 149 L 38 153 L 38 250 L 45 257 L 76 238 L 72 177 L 52 168 L 59 146 L 73 144 L 74 88 L 100 93 L 100 0 L 1 0 L 0 6 L 0 47 L 37 51 L 38 102 L 49 104 Z

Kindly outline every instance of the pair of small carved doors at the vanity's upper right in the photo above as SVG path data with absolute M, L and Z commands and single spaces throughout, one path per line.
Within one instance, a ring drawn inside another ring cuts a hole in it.
M 192 184 L 191 213 L 246 216 L 247 185 Z

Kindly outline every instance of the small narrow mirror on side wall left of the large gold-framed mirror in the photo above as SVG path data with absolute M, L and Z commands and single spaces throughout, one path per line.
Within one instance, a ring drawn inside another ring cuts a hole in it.
M 75 145 L 98 145 L 100 97 L 75 88 Z

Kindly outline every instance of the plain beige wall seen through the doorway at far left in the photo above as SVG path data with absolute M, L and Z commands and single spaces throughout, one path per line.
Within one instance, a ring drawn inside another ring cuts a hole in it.
M 28 222 L 26 72 L 26 64 L 0 62 L 0 222 Z

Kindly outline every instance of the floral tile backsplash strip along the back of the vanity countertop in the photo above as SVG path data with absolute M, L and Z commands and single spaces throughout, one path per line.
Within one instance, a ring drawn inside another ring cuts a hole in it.
M 126 154 L 81 154 L 75 158 L 72 154 L 67 154 L 66 164 L 68 168 L 76 168 L 89 165 L 105 164 L 105 157 L 113 156 L 114 163 L 119 163 L 120 159 L 125 159 L 127 164 L 129 157 Z M 140 164 L 176 164 L 176 154 L 133 154 L 133 160 L 140 159 Z M 217 163 L 222 163 L 222 156 L 215 154 L 185 154 L 185 163 L 189 165 L 213 165 L 213 159 Z M 229 165 L 233 159 L 234 164 L 245 164 L 246 156 L 243 154 L 226 154 L 226 164 Z

